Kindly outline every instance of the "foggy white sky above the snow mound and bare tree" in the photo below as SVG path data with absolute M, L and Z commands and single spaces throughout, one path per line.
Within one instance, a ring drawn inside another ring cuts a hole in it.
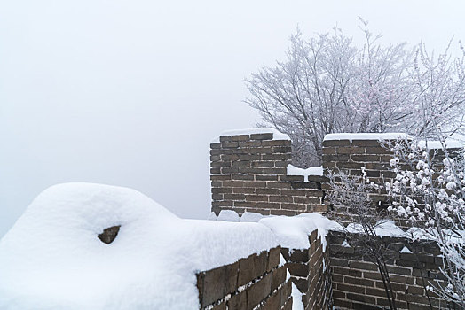
M 0 2 L 0 236 L 59 182 L 140 190 L 209 213 L 209 142 L 254 127 L 243 79 L 288 37 L 358 16 L 385 42 L 465 39 L 461 1 Z

